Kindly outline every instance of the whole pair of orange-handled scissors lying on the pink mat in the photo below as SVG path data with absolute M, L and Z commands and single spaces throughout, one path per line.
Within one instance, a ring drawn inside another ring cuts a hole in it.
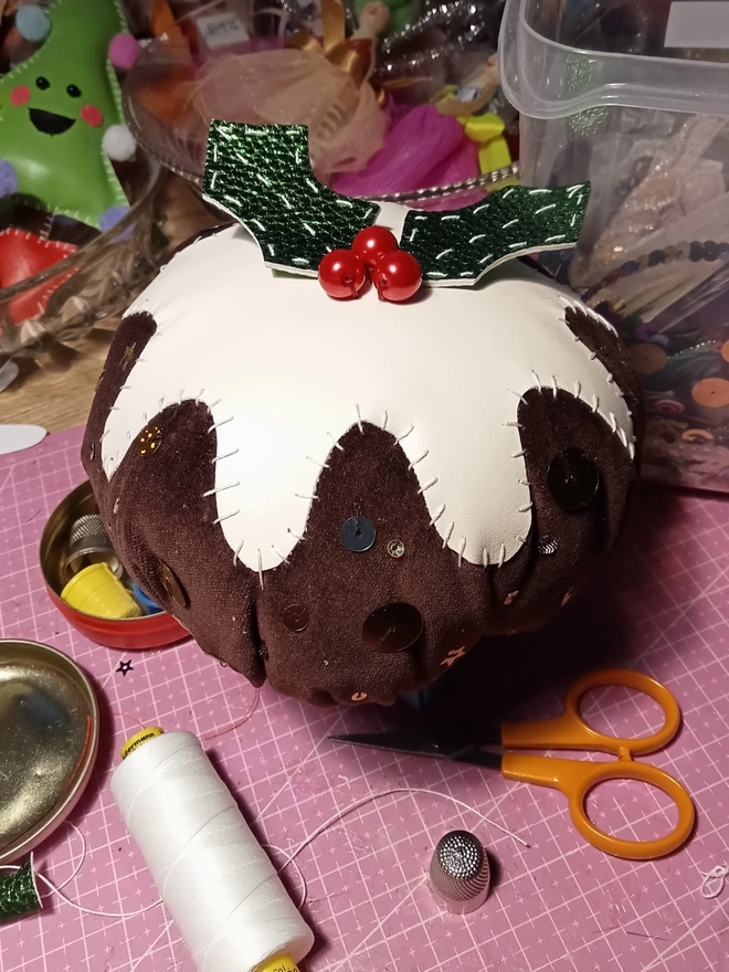
M 601 686 L 625 686 L 645 693 L 663 709 L 665 717 L 663 727 L 652 736 L 642 736 L 637 739 L 608 736 L 593 729 L 580 715 L 579 704 L 587 691 Z M 614 857 L 649 860 L 670 854 L 688 839 L 694 827 L 695 810 L 691 797 L 677 780 L 657 767 L 634 762 L 633 758 L 663 749 L 674 738 L 679 726 L 680 709 L 664 685 L 640 672 L 605 668 L 585 675 L 574 683 L 564 699 L 562 715 L 556 719 L 505 722 L 500 730 L 479 733 L 477 738 L 452 732 L 439 735 L 430 730 L 371 732 L 330 738 L 337 742 L 351 742 L 356 746 L 486 767 L 490 770 L 499 770 L 507 780 L 519 780 L 522 783 L 559 790 L 568 799 L 572 823 L 593 847 Z M 500 746 L 506 751 L 490 752 L 482 748 L 485 746 Z M 617 760 L 589 762 L 509 752 L 519 749 L 608 752 L 616 756 Z M 588 793 L 598 783 L 606 780 L 638 780 L 663 790 L 678 809 L 678 823 L 672 833 L 652 841 L 625 841 L 596 827 L 588 816 L 585 800 Z

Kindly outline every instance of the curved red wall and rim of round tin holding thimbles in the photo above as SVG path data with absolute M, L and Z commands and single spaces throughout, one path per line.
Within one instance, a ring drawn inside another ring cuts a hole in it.
M 41 538 L 41 570 L 49 595 L 61 613 L 83 635 L 109 648 L 141 651 L 161 648 L 189 637 L 188 631 L 165 611 L 141 617 L 95 617 L 77 611 L 61 599 L 66 583 L 68 541 L 74 522 L 82 516 L 98 514 L 98 506 L 86 480 L 53 510 Z

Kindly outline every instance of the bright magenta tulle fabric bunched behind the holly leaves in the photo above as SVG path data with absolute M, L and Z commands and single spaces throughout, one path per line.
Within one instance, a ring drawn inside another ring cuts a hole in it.
M 463 125 L 433 105 L 419 105 L 394 108 L 384 147 L 362 171 L 337 177 L 334 189 L 344 196 L 384 196 L 448 186 L 477 175 L 478 146 L 466 137 Z M 464 192 L 451 200 L 429 200 L 425 205 L 456 209 L 483 198 L 482 191 Z

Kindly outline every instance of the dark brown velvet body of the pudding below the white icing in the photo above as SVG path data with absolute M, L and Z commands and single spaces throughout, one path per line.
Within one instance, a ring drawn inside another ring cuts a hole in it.
M 568 311 L 568 325 L 612 371 L 640 434 L 640 391 L 617 339 L 588 315 Z M 392 702 L 446 672 L 454 655 L 457 662 L 459 649 L 483 635 L 547 622 L 591 578 L 620 533 L 636 476 L 626 450 L 584 402 L 551 388 L 532 389 L 518 411 L 532 527 L 527 543 L 503 567 L 458 566 L 457 554 L 444 549 L 430 526 L 402 448 L 389 433 L 364 424 L 347 433 L 341 450 L 332 450 L 304 540 L 288 563 L 263 574 L 261 587 L 257 573 L 234 562 L 221 526 L 213 522 L 214 496 L 203 497 L 214 486 L 215 456 L 204 405 L 184 401 L 150 415 L 149 425 L 159 427 L 158 448 L 142 456 L 133 444 L 110 483 L 102 468 L 99 441 L 108 411 L 154 330 L 149 315 L 129 317 L 119 328 L 92 410 L 84 463 L 133 575 L 203 651 L 256 685 L 267 677 L 278 690 L 317 705 L 349 702 L 352 696 Z M 548 488 L 547 469 L 556 453 L 572 446 L 598 465 L 601 486 L 590 506 L 567 513 Z M 377 528 L 374 546 L 361 553 L 339 536 L 342 522 L 358 515 Z M 554 553 L 539 552 L 543 535 L 557 540 Z M 389 554 L 391 540 L 404 545 L 401 558 Z M 166 592 L 163 567 L 183 589 L 184 606 Z M 368 649 L 364 620 L 399 601 L 420 611 L 421 638 L 398 654 Z M 293 604 L 308 614 L 300 632 L 284 623 Z

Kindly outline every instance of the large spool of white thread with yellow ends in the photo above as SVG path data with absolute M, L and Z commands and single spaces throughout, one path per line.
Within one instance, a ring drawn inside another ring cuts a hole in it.
M 197 736 L 146 730 L 123 754 L 114 800 L 199 972 L 295 969 L 314 934 Z

